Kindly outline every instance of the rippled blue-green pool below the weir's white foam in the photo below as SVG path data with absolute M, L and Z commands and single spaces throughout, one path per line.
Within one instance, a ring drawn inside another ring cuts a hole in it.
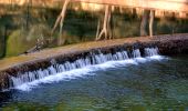
M 1 92 L 0 104 L 4 111 L 186 111 L 188 56 L 102 68 L 31 91 Z

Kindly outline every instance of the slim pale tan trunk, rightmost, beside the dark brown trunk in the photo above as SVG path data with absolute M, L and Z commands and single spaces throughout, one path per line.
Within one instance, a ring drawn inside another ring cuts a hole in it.
M 154 17 L 155 17 L 155 11 L 150 10 L 150 16 L 149 16 L 149 37 L 154 36 Z

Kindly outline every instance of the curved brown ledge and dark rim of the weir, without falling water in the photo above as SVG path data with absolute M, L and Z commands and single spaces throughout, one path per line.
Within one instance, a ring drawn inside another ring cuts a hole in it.
M 54 49 L 45 49 L 34 53 L 0 60 L 0 89 L 9 88 L 9 75 L 17 77 L 18 72 L 45 69 L 52 61 L 75 61 L 86 57 L 91 51 L 100 49 L 104 53 L 117 52 L 122 49 L 133 50 L 147 47 L 158 47 L 161 54 L 176 54 L 188 52 L 188 33 L 164 34 L 105 41 L 93 41 Z

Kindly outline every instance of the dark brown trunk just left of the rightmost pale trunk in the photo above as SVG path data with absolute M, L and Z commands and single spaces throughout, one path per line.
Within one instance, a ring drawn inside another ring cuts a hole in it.
M 145 37 L 147 34 L 147 21 L 148 21 L 149 10 L 144 10 L 142 23 L 140 23 L 140 36 Z

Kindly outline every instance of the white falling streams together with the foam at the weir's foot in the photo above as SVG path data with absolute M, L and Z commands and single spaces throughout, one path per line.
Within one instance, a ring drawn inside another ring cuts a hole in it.
M 116 52 L 115 54 L 103 54 L 100 52 L 100 54 L 92 54 L 90 58 L 79 59 L 72 63 L 67 61 L 63 64 L 56 64 L 53 60 L 53 65 L 45 70 L 20 73 L 19 77 L 10 78 L 14 89 L 30 91 L 41 83 L 69 81 L 86 75 L 94 75 L 97 70 L 164 59 L 161 56 L 158 56 L 157 48 L 146 48 L 145 56 L 145 58 L 142 58 L 138 49 L 134 50 L 130 57 L 128 57 L 126 51 Z

